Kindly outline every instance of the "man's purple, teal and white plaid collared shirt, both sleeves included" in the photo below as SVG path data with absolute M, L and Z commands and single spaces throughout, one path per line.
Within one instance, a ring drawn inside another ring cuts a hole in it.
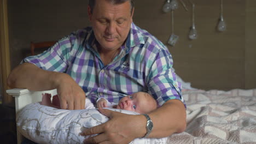
M 132 23 L 119 55 L 108 65 L 103 64 L 96 43 L 92 28 L 86 27 L 22 62 L 67 73 L 94 104 L 101 97 L 118 103 L 122 97 L 135 92 L 148 92 L 159 105 L 170 99 L 184 103 L 181 83 L 171 70 L 172 56 L 153 35 Z

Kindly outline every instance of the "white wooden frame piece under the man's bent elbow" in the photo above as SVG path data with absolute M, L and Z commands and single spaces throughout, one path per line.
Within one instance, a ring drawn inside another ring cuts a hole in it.
M 50 93 L 51 95 L 57 94 L 56 89 L 50 91 L 29 91 L 28 89 L 14 88 L 6 91 L 9 95 L 15 98 L 15 111 L 16 113 L 24 106 L 31 103 L 42 101 L 42 93 Z M 17 143 L 20 144 L 24 137 L 17 131 Z

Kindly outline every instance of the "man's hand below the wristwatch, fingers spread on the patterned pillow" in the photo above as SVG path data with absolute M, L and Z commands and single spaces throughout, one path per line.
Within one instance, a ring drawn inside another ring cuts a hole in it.
M 81 135 L 99 134 L 89 137 L 84 143 L 130 143 L 147 133 L 146 119 L 141 115 L 126 115 L 101 107 L 99 111 L 109 117 L 109 121 L 84 130 Z

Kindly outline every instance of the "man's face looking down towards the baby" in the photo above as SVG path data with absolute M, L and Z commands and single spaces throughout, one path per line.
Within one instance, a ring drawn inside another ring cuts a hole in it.
M 106 0 L 97 0 L 92 14 L 88 7 L 89 19 L 101 49 L 115 50 L 123 45 L 132 22 L 130 8 L 129 1 L 113 5 Z

